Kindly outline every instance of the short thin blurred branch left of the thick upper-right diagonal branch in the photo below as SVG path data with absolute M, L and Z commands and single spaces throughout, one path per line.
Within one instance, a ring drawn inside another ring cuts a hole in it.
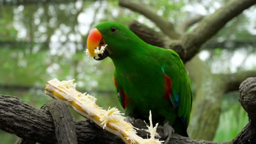
M 198 21 L 201 21 L 204 18 L 203 15 L 196 15 L 190 19 L 185 20 L 181 23 L 181 25 L 177 28 L 180 34 L 183 34 L 187 31 L 187 29 L 191 26 L 193 26 Z

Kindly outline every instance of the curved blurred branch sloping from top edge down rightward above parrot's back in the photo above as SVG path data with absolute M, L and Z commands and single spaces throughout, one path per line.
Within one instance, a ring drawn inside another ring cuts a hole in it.
M 135 3 L 131 1 L 125 1 L 120 0 L 119 5 L 126 7 L 127 9 L 133 10 L 135 12 L 138 12 L 142 15 L 145 15 L 148 19 L 153 21 L 162 31 L 165 35 L 173 38 L 178 39 L 180 35 L 175 31 L 173 24 L 161 16 L 157 15 L 155 12 L 153 12 L 151 9 L 149 9 L 147 6 L 143 6 L 145 4 L 141 3 Z

